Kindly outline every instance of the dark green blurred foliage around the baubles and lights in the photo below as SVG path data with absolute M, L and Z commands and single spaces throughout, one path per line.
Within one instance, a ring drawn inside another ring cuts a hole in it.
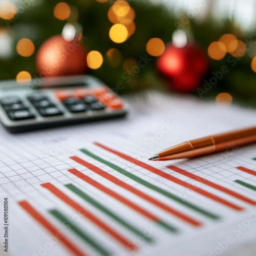
M 15 79 L 16 74 L 21 70 L 27 70 L 32 76 L 37 76 L 35 67 L 36 51 L 42 42 L 52 35 L 60 34 L 66 21 L 58 20 L 53 15 L 54 6 L 59 1 L 34 1 L 24 13 L 18 14 L 14 22 L 10 22 L 10 27 L 4 20 L 0 26 L 8 28 L 11 38 L 13 38 L 13 49 L 20 38 L 31 38 L 35 44 L 35 53 L 31 57 L 21 57 L 16 51 L 11 59 L 0 60 L 1 72 L 0 79 Z M 175 17 L 172 11 L 167 10 L 162 5 L 152 5 L 147 1 L 131 1 L 130 5 L 134 8 L 136 17 L 136 31 L 123 44 L 116 44 L 109 38 L 109 30 L 113 25 L 108 19 L 108 10 L 111 2 L 98 3 L 95 0 L 76 0 L 65 1 L 70 6 L 76 6 L 79 11 L 78 22 L 82 24 L 83 44 L 88 51 L 97 50 L 102 53 L 106 60 L 106 52 L 111 48 L 116 48 L 121 52 L 122 60 L 118 67 L 111 67 L 108 61 L 104 61 L 98 70 L 89 71 L 99 77 L 111 88 L 115 88 L 117 83 L 122 83 L 124 89 L 119 93 L 133 93 L 145 89 L 166 90 L 168 83 L 159 76 L 155 67 L 155 57 L 148 62 L 145 68 L 132 77 L 131 81 L 124 79 L 123 61 L 127 58 L 140 60 L 140 56 L 146 54 L 146 43 L 152 37 L 160 37 L 165 43 L 172 39 L 172 33 L 176 30 L 177 24 L 181 25 L 181 19 Z M 212 41 L 217 41 L 225 33 L 233 33 L 241 40 L 245 40 L 241 33 L 234 29 L 229 21 L 216 24 L 214 20 L 207 19 L 199 23 L 190 20 L 189 29 L 194 40 L 201 45 L 207 54 L 207 49 Z M 252 38 L 255 39 L 255 38 Z M 255 51 L 255 50 L 254 50 Z M 228 72 L 213 88 L 204 94 L 204 98 L 216 97 L 219 92 L 229 92 L 235 99 L 254 103 L 256 97 L 255 74 L 251 70 L 251 57 L 247 54 L 241 59 L 236 59 L 227 54 L 222 60 L 210 61 L 210 71 L 205 79 L 208 81 L 212 77 L 212 71 L 220 71 L 223 66 L 227 66 Z M 234 64 L 235 63 L 235 64 Z M 130 79 L 129 79 L 130 80 Z M 204 82 L 200 85 L 202 88 Z M 196 92 L 195 95 L 199 96 Z

